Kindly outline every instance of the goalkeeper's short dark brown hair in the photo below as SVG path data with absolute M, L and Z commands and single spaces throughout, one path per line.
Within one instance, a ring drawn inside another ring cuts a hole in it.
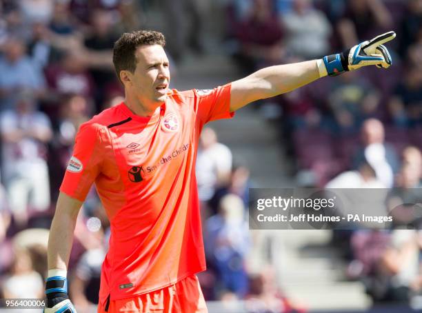
M 137 68 L 135 51 L 142 45 L 160 45 L 164 47 L 165 37 L 161 32 L 155 32 L 154 30 L 135 30 L 134 32 L 125 32 L 114 43 L 114 70 L 116 70 L 117 78 L 121 83 L 121 70 L 128 70 L 133 73 Z

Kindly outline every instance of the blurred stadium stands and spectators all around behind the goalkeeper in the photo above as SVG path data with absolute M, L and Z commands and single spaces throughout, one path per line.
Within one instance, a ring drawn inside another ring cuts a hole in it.
M 74 135 L 123 100 L 112 46 L 141 28 L 165 34 L 179 90 L 394 30 L 390 69 L 326 77 L 205 128 L 197 181 L 208 270 L 198 276 L 210 313 L 422 307 L 422 235 L 411 218 L 383 231 L 248 230 L 251 187 L 394 188 L 386 212 L 422 202 L 422 0 L 0 1 L 1 298 L 43 297 Z M 96 312 L 109 225 L 92 188 L 69 263 L 78 312 Z

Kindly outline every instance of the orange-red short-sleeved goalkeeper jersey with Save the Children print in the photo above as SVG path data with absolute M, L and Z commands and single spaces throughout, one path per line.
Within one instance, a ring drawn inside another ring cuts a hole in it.
M 195 159 L 208 121 L 232 117 L 230 84 L 171 90 L 152 117 L 125 103 L 81 125 L 61 192 L 95 183 L 111 223 L 100 301 L 161 289 L 205 270 Z

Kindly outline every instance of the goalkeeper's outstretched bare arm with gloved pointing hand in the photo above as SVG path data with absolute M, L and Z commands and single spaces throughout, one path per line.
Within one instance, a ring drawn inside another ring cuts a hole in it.
M 326 75 L 337 76 L 366 65 L 388 68 L 392 60 L 383 43 L 394 37 L 396 37 L 394 32 L 386 32 L 370 41 L 364 41 L 344 52 L 323 59 L 275 65 L 258 70 L 248 77 L 232 82 L 230 112 L 250 102 L 290 92 Z

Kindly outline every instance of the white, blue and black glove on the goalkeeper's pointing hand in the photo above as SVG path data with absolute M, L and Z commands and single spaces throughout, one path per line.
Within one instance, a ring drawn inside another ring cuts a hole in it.
M 318 60 L 321 77 L 337 76 L 348 70 L 356 70 L 366 65 L 377 68 L 389 68 L 392 60 L 387 48 L 383 45 L 396 37 L 395 32 L 385 32 L 370 41 L 363 41 L 344 52 L 331 54 Z

